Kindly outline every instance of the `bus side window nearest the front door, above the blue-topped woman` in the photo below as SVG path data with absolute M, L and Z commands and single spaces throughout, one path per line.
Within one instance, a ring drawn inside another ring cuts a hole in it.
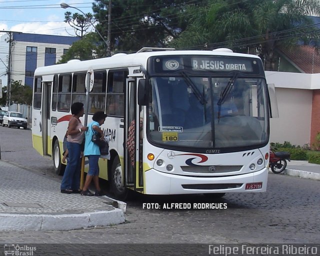
M 110 70 L 106 92 L 106 109 L 109 116 L 124 116 L 124 88 L 127 70 Z

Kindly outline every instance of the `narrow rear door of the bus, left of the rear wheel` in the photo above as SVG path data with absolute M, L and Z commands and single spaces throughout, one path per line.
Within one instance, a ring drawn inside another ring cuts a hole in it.
M 42 82 L 42 115 L 41 115 L 41 123 L 42 123 L 42 148 L 43 155 L 51 156 L 51 143 L 50 143 L 50 106 L 51 106 L 51 82 Z

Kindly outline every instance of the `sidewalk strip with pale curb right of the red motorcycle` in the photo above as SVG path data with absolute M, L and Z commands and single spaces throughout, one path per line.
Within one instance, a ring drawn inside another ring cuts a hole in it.
M 271 172 L 270 169 L 269 172 Z M 310 164 L 307 161 L 291 160 L 287 161 L 286 169 L 282 174 L 320 181 L 320 165 Z

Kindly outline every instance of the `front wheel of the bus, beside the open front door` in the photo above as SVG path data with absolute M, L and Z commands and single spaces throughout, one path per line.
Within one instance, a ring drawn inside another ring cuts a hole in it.
M 116 199 L 125 200 L 127 198 L 128 191 L 123 185 L 122 169 L 118 157 L 112 163 L 111 190 Z

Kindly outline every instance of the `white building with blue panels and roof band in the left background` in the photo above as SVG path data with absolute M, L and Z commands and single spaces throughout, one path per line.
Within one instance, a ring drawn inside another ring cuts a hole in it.
M 9 39 L 11 34 L 11 40 Z M 0 38 L 0 76 L 2 85 L 7 85 L 3 70 L 10 65 L 10 79 L 32 86 L 34 70 L 37 67 L 55 64 L 78 37 L 29 34 L 20 32 L 5 33 Z M 10 42 L 11 41 L 11 42 Z M 9 44 L 11 61 L 9 62 Z

